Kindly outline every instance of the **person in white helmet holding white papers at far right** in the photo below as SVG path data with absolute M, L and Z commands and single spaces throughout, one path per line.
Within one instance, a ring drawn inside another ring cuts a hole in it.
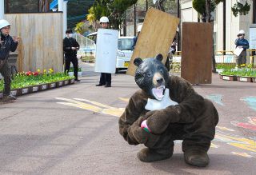
M 246 64 L 246 49 L 249 49 L 249 42 L 245 39 L 245 31 L 240 30 L 238 34 L 238 38 L 235 40 L 234 44 L 237 47 L 243 48 L 241 54 L 236 57 L 236 65 L 240 66 L 242 64 Z

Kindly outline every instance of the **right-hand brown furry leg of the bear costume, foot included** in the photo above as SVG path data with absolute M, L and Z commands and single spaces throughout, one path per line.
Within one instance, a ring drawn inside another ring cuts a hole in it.
M 189 165 L 205 167 L 209 164 L 207 151 L 214 139 L 215 126 L 218 124 L 218 112 L 211 101 L 205 100 L 204 111 L 192 124 L 185 126 L 182 151 Z

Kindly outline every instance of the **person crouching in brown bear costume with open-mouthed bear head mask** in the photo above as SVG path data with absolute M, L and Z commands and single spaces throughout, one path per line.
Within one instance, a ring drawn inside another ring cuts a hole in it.
M 184 160 L 189 165 L 209 164 L 207 151 L 214 139 L 218 111 L 196 93 L 190 82 L 169 76 L 156 58 L 134 59 L 135 82 L 141 88 L 119 118 L 119 133 L 130 145 L 144 144 L 137 157 L 151 162 L 170 158 L 174 141 L 182 140 Z

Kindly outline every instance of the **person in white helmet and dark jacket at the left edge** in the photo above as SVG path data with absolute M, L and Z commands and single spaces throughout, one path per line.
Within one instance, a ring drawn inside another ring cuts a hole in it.
M 11 84 L 11 71 L 8 63 L 8 58 L 10 57 L 10 51 L 14 52 L 18 46 L 18 37 L 10 37 L 10 23 L 6 20 L 0 20 L 0 73 L 4 78 L 4 89 L 2 101 L 15 100 L 10 94 L 10 84 Z

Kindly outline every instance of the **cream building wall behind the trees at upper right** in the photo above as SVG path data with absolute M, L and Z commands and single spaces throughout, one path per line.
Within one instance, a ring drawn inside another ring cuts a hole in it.
M 226 50 L 234 50 L 234 40 L 237 38 L 239 30 L 245 30 L 246 39 L 249 41 L 249 29 L 253 22 L 253 1 L 251 3 L 251 10 L 249 14 L 239 15 L 234 17 L 231 6 L 234 6 L 236 0 L 226 1 Z M 181 1 L 181 22 L 197 22 L 198 13 L 192 7 L 192 0 Z M 216 50 L 223 50 L 223 3 L 219 3 L 214 19 L 214 35 Z

